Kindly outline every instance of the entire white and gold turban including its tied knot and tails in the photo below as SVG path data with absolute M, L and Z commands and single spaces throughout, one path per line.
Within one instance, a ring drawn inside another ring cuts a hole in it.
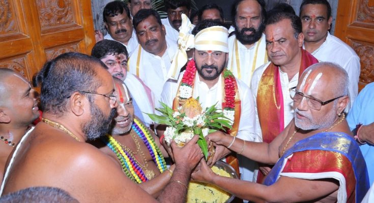
M 190 32 L 193 29 L 188 17 L 182 14 L 182 25 L 179 28 L 178 50 L 171 62 L 167 77 L 178 80 L 179 72 L 187 62 L 186 51 L 192 48 L 197 50 L 212 50 L 228 53 L 228 33 L 223 26 L 213 26 L 199 31 L 196 36 Z

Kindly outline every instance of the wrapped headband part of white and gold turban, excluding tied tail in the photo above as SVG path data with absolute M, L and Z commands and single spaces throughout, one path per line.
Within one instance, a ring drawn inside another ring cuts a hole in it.
M 223 26 L 213 26 L 199 31 L 194 40 L 195 49 L 228 53 L 228 33 Z

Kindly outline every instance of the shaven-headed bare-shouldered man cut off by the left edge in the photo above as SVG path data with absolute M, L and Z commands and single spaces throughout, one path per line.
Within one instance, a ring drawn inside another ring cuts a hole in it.
M 35 91 L 23 76 L 0 69 L 0 181 L 5 164 L 28 126 L 39 117 Z

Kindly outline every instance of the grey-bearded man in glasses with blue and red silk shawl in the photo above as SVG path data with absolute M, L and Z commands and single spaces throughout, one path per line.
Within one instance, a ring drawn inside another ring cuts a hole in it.
M 335 63 L 306 69 L 296 87 L 294 119 L 270 143 L 254 143 L 215 132 L 218 145 L 275 164 L 264 185 L 215 175 L 202 161 L 194 178 L 254 202 L 361 202 L 369 188 L 366 164 L 344 116 L 348 74 Z

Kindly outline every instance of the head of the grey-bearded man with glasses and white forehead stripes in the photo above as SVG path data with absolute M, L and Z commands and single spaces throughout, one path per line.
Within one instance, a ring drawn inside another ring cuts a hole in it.
M 332 126 L 349 103 L 348 85 L 347 72 L 335 63 L 308 67 L 294 90 L 295 125 L 303 130 Z

